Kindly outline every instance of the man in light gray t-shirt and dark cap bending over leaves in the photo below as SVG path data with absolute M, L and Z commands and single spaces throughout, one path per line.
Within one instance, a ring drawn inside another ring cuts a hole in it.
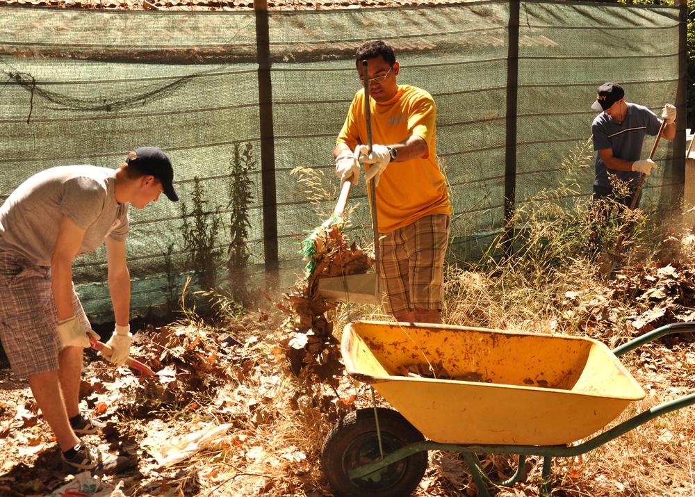
M 165 193 L 179 197 L 169 158 L 156 147 L 130 152 L 117 170 L 92 165 L 33 175 L 0 207 L 0 341 L 18 377 L 53 430 L 66 471 L 113 474 L 127 457 L 79 440 L 98 427 L 79 412 L 83 349 L 94 334 L 72 283 L 76 256 L 106 244 L 116 366 L 130 353 L 130 274 L 125 240 L 129 205 L 144 208 Z

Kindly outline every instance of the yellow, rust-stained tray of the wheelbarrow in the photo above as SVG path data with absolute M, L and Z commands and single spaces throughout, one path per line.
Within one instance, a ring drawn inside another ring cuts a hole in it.
M 357 321 L 341 348 L 347 373 L 440 443 L 570 443 L 644 398 L 613 352 L 585 337 Z M 430 365 L 439 377 L 404 375 Z

